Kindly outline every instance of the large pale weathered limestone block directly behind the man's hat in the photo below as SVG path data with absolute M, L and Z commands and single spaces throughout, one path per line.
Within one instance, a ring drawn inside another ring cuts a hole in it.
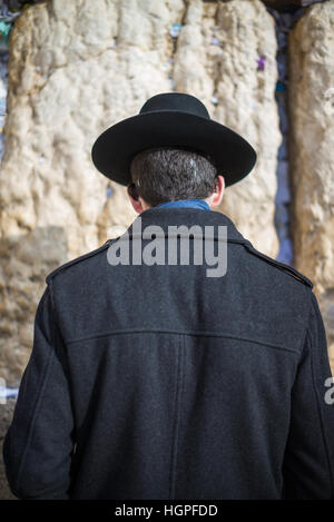
M 178 39 L 173 23 L 183 23 Z M 27 363 L 46 274 L 135 218 L 124 187 L 110 183 L 107 197 L 90 149 L 157 92 L 198 96 L 255 147 L 256 168 L 226 190 L 222 210 L 275 256 L 275 53 L 259 0 L 50 0 L 22 12 L 10 38 L 0 174 L 1 376 L 17 383 Z

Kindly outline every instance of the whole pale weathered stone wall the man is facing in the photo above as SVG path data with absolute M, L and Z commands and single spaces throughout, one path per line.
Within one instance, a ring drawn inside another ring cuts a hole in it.
M 294 264 L 315 283 L 334 370 L 333 33 L 334 0 L 305 9 L 289 33 L 288 148 Z M 0 173 L 0 377 L 19 384 L 46 275 L 135 218 L 125 188 L 94 169 L 90 148 L 157 92 L 199 97 L 255 147 L 255 169 L 226 190 L 220 210 L 276 256 L 276 51 L 259 0 L 50 0 L 24 9 L 10 37 Z M 0 404 L 0 450 L 13 405 Z

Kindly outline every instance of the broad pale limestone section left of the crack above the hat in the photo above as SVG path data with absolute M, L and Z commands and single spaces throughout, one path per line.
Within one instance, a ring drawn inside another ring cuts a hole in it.
M 107 193 L 90 149 L 169 90 L 168 30 L 184 9 L 181 0 L 52 0 L 14 24 L 0 174 L 0 375 L 11 384 L 27 364 L 47 273 L 136 217 L 124 187 Z

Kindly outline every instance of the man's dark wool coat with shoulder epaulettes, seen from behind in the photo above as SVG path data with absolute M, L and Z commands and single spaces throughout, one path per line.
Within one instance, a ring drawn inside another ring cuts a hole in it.
M 208 277 L 191 257 L 111 266 L 112 239 L 48 275 L 3 446 L 14 495 L 333 499 L 332 381 L 312 283 L 224 214 L 140 218 L 164 245 L 170 226 L 199 225 L 217 248 L 226 226 L 226 274 Z

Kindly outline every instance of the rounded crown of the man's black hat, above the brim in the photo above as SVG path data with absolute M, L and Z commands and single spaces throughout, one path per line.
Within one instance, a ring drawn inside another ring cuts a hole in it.
M 153 96 L 144 104 L 139 115 L 166 110 L 186 112 L 210 119 L 209 114 L 202 101 L 198 98 L 195 98 L 195 96 L 186 95 L 184 92 L 165 92 Z

